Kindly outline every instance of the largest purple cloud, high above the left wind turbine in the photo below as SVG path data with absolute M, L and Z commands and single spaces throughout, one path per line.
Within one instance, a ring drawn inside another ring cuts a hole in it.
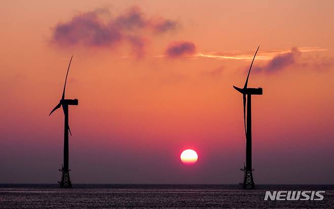
M 56 24 L 52 29 L 51 43 L 59 47 L 109 49 L 125 43 L 131 46 L 132 53 L 142 57 L 147 43 L 143 33 L 164 33 L 175 30 L 178 25 L 176 21 L 163 17 L 146 18 L 139 7 L 130 7 L 113 18 L 109 13 L 108 8 L 97 9 Z

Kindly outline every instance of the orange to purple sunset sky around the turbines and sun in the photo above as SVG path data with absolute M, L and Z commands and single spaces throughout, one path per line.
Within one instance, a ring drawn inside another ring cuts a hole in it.
M 334 2 L 0 3 L 0 183 L 334 184 Z M 198 161 L 184 165 L 183 150 Z

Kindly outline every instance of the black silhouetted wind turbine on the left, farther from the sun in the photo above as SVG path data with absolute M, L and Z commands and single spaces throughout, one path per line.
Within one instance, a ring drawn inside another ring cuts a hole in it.
M 70 60 L 70 64 L 68 67 L 68 72 L 66 73 L 64 90 L 62 91 L 61 99 L 58 105 L 51 111 L 49 116 L 58 108 L 62 107 L 64 112 L 64 163 L 61 165 L 61 169 L 59 171 L 62 172 L 61 181 L 58 182 L 60 187 L 64 188 L 71 188 L 72 183 L 70 180 L 70 169 L 69 169 L 69 131 L 72 136 L 70 126 L 69 126 L 69 105 L 78 105 L 78 99 L 65 99 L 65 87 L 66 87 L 66 80 L 68 79 L 69 69 L 71 65 L 73 55 Z

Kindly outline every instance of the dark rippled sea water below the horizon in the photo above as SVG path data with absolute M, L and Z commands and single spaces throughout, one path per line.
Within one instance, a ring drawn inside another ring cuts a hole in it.
M 325 191 L 321 201 L 264 200 L 265 191 Z M 0 185 L 1 208 L 334 208 L 334 185 Z

